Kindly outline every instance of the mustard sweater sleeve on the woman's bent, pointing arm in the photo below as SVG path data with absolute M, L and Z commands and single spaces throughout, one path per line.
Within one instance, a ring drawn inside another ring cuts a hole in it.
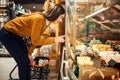
M 54 43 L 54 38 L 42 38 L 41 35 L 45 31 L 45 22 L 43 18 L 36 18 L 33 21 L 31 31 L 31 42 L 33 45 L 41 46 Z

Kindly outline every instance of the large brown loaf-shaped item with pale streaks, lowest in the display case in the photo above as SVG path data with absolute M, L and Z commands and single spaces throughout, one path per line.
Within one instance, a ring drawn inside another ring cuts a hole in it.
M 118 69 L 112 67 L 80 67 L 78 80 L 115 80 L 119 78 L 119 72 Z

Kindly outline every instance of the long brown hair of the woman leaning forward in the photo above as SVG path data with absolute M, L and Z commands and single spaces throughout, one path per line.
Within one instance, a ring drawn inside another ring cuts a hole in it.
M 55 21 L 60 15 L 65 13 L 65 9 L 61 4 L 56 4 L 53 8 L 49 9 L 44 16 L 49 21 Z

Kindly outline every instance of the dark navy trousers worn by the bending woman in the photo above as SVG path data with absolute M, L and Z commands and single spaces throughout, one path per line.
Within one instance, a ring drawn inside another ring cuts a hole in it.
M 19 80 L 30 80 L 30 61 L 23 38 L 2 28 L 0 30 L 0 41 L 18 65 Z

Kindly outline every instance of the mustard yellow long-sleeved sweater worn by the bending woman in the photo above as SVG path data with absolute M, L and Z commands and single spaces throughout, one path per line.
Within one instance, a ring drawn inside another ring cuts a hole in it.
M 14 34 L 20 37 L 31 37 L 32 44 L 28 49 L 29 54 L 38 45 L 46 45 L 54 42 L 53 38 L 41 38 L 46 28 L 46 20 L 41 14 L 21 16 L 5 24 L 5 29 Z

